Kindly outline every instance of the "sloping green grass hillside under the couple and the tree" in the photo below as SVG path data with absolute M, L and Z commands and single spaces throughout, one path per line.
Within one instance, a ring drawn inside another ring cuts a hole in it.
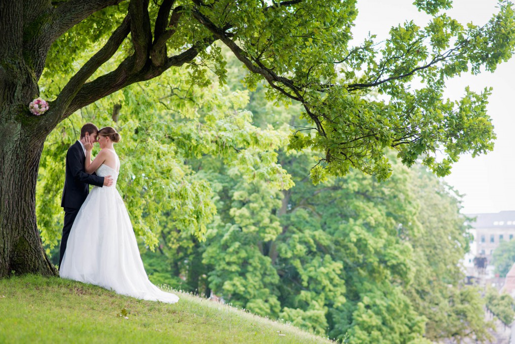
M 0 343 L 332 343 L 289 324 L 174 293 L 179 302 L 165 304 L 55 277 L 0 280 Z

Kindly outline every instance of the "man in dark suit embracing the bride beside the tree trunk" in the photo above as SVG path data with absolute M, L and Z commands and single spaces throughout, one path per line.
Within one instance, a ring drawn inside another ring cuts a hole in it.
M 75 142 L 66 153 L 66 177 L 64 180 L 64 190 L 61 199 L 61 207 L 64 208 L 64 226 L 61 238 L 61 249 L 59 252 L 59 267 L 63 260 L 64 251 L 70 230 L 72 229 L 75 217 L 84 200 L 89 194 L 89 185 L 111 186 L 113 180 L 111 176 L 98 177 L 89 175 L 84 171 L 84 161 L 86 160 L 86 144 L 97 142 L 98 128 L 93 123 L 86 123 L 80 129 L 80 140 Z

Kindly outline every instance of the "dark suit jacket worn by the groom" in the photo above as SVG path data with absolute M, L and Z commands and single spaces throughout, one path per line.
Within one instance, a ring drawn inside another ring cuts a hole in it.
M 87 174 L 84 170 L 86 157 L 77 141 L 66 153 L 66 177 L 61 207 L 79 209 L 90 192 L 89 185 L 104 186 L 104 177 Z

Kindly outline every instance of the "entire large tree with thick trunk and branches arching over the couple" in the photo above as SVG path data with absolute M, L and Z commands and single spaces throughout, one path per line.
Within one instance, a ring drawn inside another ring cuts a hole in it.
M 0 1 L 0 278 L 11 271 L 55 274 L 41 245 L 36 215 L 37 171 L 45 137 L 84 106 L 128 85 L 186 63 L 202 83 L 204 65 L 225 78 L 215 42 L 226 45 L 251 72 L 250 88 L 265 80 L 268 96 L 302 104 L 306 128 L 291 148 L 312 146 L 320 159 L 312 179 L 351 168 L 385 179 L 385 147 L 411 165 L 419 157 L 439 174 L 462 152 L 491 149 L 488 90 L 443 100 L 447 78 L 511 56 L 511 4 L 484 26 L 460 25 L 442 9 L 449 0 L 415 5 L 432 20 L 392 27 L 390 38 L 350 46 L 355 1 L 268 0 L 20 0 Z M 75 57 L 88 56 L 80 67 Z M 107 61 L 119 61 L 105 70 Z M 46 94 L 43 78 L 70 73 L 62 89 Z M 417 87 L 411 87 L 411 83 Z M 375 90 L 382 95 L 370 100 Z M 40 95 L 43 116 L 28 111 Z M 306 135 L 307 131 L 313 134 Z M 444 152 L 436 160 L 437 150 Z

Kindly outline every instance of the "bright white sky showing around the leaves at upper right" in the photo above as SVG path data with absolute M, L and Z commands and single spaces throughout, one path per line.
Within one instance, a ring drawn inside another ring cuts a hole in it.
M 414 20 L 423 27 L 428 16 L 418 12 L 412 3 L 413 0 L 358 1 L 359 14 L 353 29 L 355 42 L 362 42 L 369 31 L 377 35 L 377 40 L 383 40 L 391 26 L 406 20 Z M 461 24 L 483 25 L 497 12 L 496 5 L 496 0 L 455 0 L 453 9 L 447 13 Z M 445 181 L 464 195 L 463 213 L 515 210 L 515 116 L 511 104 L 515 99 L 515 85 L 510 82 L 513 77 L 515 58 L 499 65 L 493 74 L 467 74 L 447 83 L 445 96 L 451 99 L 461 98 L 467 85 L 475 92 L 493 88 L 487 109 L 497 135 L 494 150 L 474 159 L 462 156 L 452 174 L 445 177 Z

